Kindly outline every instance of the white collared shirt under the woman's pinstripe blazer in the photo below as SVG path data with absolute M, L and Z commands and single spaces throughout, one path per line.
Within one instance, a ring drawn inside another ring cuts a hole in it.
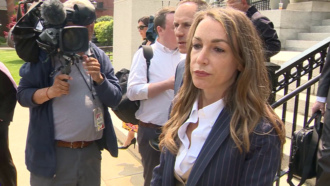
M 182 175 L 195 162 L 205 140 L 211 131 L 217 117 L 224 108 L 222 99 L 203 107 L 198 110 L 198 98 L 195 100 L 189 118 L 178 129 L 178 137 L 181 140 L 181 145 L 176 155 L 174 164 L 175 172 L 183 179 Z M 196 123 L 198 126 L 191 133 L 191 145 L 189 148 L 189 139 L 186 135 L 186 129 L 189 123 Z

